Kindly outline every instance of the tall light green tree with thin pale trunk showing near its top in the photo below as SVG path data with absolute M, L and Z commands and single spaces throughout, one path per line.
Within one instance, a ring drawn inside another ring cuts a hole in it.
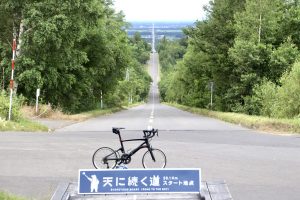
M 252 95 L 254 85 L 264 78 L 276 79 L 270 59 L 275 55 L 273 50 L 282 42 L 283 7 L 282 0 L 247 0 L 245 10 L 235 14 L 236 38 L 229 56 L 235 65 L 233 74 L 238 78 L 231 83 L 228 93 L 236 99 L 232 105 L 234 111 L 251 114 L 251 109 L 243 106 L 245 99 Z

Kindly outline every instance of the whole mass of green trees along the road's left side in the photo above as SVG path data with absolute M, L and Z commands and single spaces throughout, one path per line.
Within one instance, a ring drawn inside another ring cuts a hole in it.
M 150 80 L 142 65 L 149 60 L 150 46 L 139 36 L 128 39 L 128 24 L 122 13 L 115 12 L 112 1 L 8 0 L 0 3 L 0 17 L 5 85 L 14 29 L 19 47 L 18 93 L 28 103 L 35 101 L 40 88 L 43 103 L 67 113 L 98 107 L 101 92 L 107 105 L 121 105 L 127 97 L 122 97 L 119 87 L 128 68 L 136 79 L 131 84 L 134 99 L 146 98 Z

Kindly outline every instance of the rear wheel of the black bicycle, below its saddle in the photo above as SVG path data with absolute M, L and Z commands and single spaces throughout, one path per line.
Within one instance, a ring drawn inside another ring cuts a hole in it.
M 96 169 L 114 168 L 117 164 L 117 159 L 118 156 L 112 148 L 101 147 L 93 155 L 93 165 Z

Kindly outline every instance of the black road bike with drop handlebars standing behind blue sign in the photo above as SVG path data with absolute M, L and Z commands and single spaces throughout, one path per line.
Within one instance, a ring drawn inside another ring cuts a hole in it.
M 96 169 L 116 168 L 122 164 L 127 165 L 131 162 L 131 157 L 139 150 L 146 148 L 147 151 L 143 155 L 142 164 L 144 168 L 165 168 L 167 158 L 165 153 L 160 149 L 152 148 L 151 139 L 157 135 L 158 130 L 143 130 L 144 136 L 140 139 L 122 140 L 120 130 L 124 128 L 113 128 L 112 132 L 119 136 L 121 147 L 113 150 L 110 147 L 101 147 L 97 149 L 93 155 L 93 165 Z M 142 141 L 135 149 L 125 153 L 124 142 Z

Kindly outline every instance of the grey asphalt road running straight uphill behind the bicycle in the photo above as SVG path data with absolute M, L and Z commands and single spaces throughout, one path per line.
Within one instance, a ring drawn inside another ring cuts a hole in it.
M 49 199 L 59 182 L 76 181 L 78 169 L 93 168 L 100 146 L 159 129 L 152 145 L 167 155 L 168 168 L 201 168 L 207 181 L 225 180 L 237 200 L 299 200 L 300 135 L 280 136 L 201 117 L 159 103 L 158 56 L 151 55 L 149 102 L 126 111 L 73 124 L 54 133 L 0 134 L 0 190 Z M 126 145 L 132 148 L 136 143 Z M 141 168 L 141 155 L 129 168 Z

